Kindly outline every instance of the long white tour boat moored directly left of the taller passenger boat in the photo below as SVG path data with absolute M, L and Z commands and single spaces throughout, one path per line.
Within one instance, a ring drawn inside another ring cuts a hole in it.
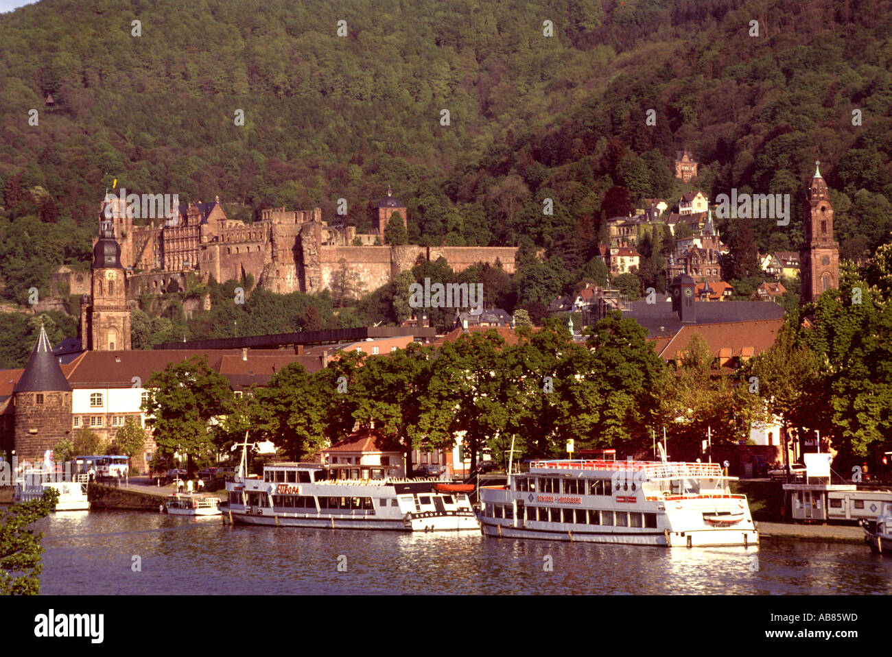
M 355 465 L 267 464 L 262 479 L 227 481 L 223 520 L 250 525 L 350 530 L 479 530 L 464 492 L 433 479 L 390 477 Z M 243 471 L 244 472 L 244 471 Z

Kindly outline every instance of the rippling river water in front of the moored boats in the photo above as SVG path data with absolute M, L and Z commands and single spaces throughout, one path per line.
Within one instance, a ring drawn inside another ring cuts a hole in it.
M 116 511 L 35 529 L 43 594 L 892 594 L 892 559 L 856 544 L 666 550 Z

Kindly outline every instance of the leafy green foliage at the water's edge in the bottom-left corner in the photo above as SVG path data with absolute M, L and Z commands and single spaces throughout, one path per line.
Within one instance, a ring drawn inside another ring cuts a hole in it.
M 40 499 L 12 505 L 0 513 L 0 595 L 37 595 L 44 553 L 40 539 L 30 526 L 53 513 L 59 491 L 46 489 Z

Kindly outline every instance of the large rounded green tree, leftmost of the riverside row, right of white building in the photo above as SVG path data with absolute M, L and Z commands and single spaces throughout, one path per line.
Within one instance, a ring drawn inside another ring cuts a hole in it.
M 145 383 L 151 394 L 142 406 L 153 438 L 165 454 L 193 456 L 213 451 L 211 422 L 234 410 L 234 396 L 227 380 L 204 357 L 170 363 Z

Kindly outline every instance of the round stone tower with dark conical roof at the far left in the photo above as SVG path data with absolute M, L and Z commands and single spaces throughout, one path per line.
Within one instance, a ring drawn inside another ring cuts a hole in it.
M 71 438 L 71 386 L 66 381 L 43 324 L 28 365 L 12 389 L 13 446 L 20 463 L 42 460 L 44 452 Z

